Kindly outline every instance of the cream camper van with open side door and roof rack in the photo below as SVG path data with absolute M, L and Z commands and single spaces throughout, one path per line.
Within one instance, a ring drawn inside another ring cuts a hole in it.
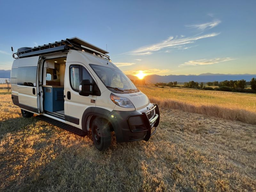
M 110 146 L 112 131 L 117 142 L 149 140 L 159 124 L 158 106 L 107 53 L 77 37 L 19 48 L 12 55 L 13 104 L 24 117 L 36 114 L 80 136 L 91 129 L 99 150 Z

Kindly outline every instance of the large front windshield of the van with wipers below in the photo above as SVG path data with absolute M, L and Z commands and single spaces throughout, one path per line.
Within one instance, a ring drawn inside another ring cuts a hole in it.
M 90 64 L 90 66 L 106 87 L 117 88 L 116 91 L 120 89 L 119 91 L 125 90 L 130 92 L 139 92 L 132 81 L 124 75 L 122 71 L 94 64 Z

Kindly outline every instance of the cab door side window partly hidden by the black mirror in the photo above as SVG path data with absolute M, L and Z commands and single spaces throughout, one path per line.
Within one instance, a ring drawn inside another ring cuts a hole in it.
M 92 83 L 91 75 L 81 65 L 71 65 L 69 67 L 69 78 L 71 88 L 76 92 L 79 92 L 80 81 L 82 81 L 83 79 L 89 79 Z

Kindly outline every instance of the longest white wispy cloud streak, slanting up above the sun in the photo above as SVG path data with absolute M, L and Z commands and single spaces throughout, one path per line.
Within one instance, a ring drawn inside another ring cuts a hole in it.
M 196 40 L 208 38 L 208 37 L 214 37 L 217 35 L 219 35 L 219 33 L 210 33 L 206 35 L 192 36 L 192 37 L 186 37 L 186 38 L 178 38 L 178 37 L 174 38 L 173 36 L 171 36 L 168 39 L 164 40 L 163 42 L 140 47 L 131 52 L 127 52 L 126 54 L 151 55 L 153 54 L 153 52 L 159 51 L 164 48 L 170 48 L 170 47 L 175 47 L 175 46 L 184 45 L 184 44 L 191 44 L 191 43 L 194 43 Z

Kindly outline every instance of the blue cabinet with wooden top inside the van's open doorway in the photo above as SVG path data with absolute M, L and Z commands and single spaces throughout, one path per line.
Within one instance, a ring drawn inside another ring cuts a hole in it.
M 44 85 L 44 111 L 64 110 L 64 87 Z

